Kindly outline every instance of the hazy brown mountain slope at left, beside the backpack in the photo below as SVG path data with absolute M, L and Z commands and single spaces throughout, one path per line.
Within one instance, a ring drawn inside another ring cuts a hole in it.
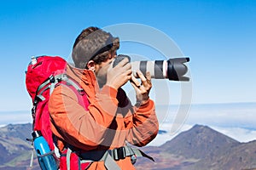
M 27 169 L 32 156 L 32 124 L 9 124 L 0 128 L 0 169 Z M 37 163 L 34 158 L 34 162 Z

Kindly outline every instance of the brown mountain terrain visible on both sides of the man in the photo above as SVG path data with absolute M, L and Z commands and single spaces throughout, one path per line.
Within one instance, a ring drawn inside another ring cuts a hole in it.
M 0 169 L 28 169 L 31 159 L 31 124 L 0 127 Z M 256 141 L 240 143 L 211 127 L 195 125 L 158 147 L 141 148 L 154 162 L 138 158 L 137 170 L 256 169 Z M 39 169 L 37 158 L 34 167 Z

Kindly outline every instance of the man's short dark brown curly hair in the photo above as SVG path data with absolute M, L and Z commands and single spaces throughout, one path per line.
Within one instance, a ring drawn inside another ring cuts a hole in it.
M 100 64 L 108 59 L 108 54 L 112 54 L 117 49 L 119 49 L 118 37 L 113 37 L 98 27 L 90 26 L 76 38 L 72 58 L 76 67 L 84 69 L 88 61 L 94 60 L 96 64 Z

